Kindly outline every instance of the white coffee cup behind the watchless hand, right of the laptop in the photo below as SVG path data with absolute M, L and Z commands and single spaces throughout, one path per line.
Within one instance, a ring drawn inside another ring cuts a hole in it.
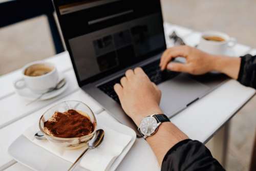
M 206 40 L 204 37 L 221 37 L 224 41 Z M 198 49 L 213 55 L 226 55 L 227 51 L 237 44 L 236 38 L 230 37 L 225 33 L 217 31 L 204 32 L 200 38 Z

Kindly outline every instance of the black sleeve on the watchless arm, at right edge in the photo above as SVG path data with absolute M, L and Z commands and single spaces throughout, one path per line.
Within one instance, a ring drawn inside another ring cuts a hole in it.
M 238 81 L 244 86 L 256 89 L 256 56 L 248 54 L 241 57 Z

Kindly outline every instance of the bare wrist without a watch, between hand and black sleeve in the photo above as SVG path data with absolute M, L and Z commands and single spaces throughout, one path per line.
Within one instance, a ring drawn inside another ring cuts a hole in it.
M 212 56 L 212 70 L 228 75 L 233 79 L 238 79 L 241 65 L 241 58 L 228 56 Z

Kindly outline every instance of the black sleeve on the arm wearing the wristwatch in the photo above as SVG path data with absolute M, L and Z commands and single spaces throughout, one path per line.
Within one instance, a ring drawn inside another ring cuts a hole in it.
M 162 171 L 225 170 L 199 141 L 183 140 L 169 149 L 162 162 Z

